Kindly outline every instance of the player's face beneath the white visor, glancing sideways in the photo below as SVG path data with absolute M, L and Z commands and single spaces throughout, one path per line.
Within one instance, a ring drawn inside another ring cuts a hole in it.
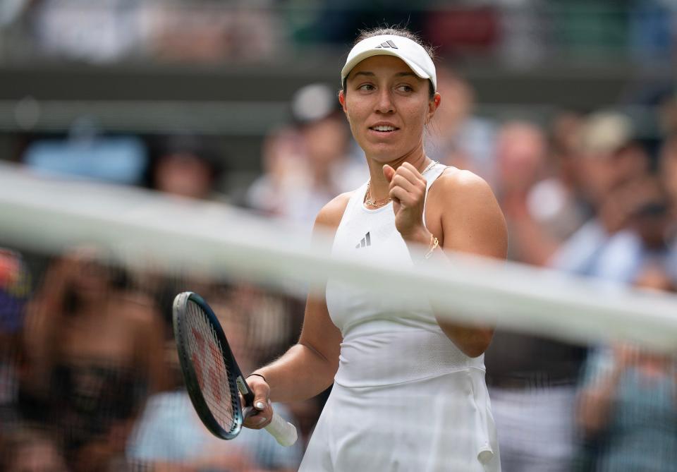
M 422 152 L 423 127 L 439 105 L 439 95 L 429 98 L 428 80 L 395 56 L 358 63 L 340 99 L 355 140 L 380 163 Z

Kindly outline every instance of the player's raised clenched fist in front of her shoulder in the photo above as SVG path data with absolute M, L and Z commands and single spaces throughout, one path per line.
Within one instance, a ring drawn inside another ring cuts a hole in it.
M 397 170 L 385 164 L 383 175 L 390 183 L 389 195 L 393 200 L 397 231 L 405 241 L 427 244 L 429 234 L 423 226 L 425 178 L 408 162 Z

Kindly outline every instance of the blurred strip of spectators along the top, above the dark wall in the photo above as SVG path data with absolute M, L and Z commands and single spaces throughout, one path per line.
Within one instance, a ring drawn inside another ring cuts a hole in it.
M 676 12 L 670 0 L 6 0 L 0 60 L 269 61 L 318 43 L 343 47 L 365 25 L 405 20 L 448 56 L 642 62 L 674 54 Z

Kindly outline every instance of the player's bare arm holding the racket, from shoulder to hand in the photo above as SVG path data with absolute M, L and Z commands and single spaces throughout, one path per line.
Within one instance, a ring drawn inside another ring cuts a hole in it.
M 320 210 L 315 220 L 315 235 L 319 231 L 336 231 L 348 200 L 350 194 L 344 193 Z M 255 370 L 265 380 L 258 375 L 248 377 L 247 382 L 255 394 L 255 406 L 261 402 L 264 407 L 259 408 L 257 416 L 248 418 L 245 426 L 258 429 L 270 422 L 269 401 L 305 400 L 327 389 L 338 369 L 341 339 L 341 332 L 329 317 L 324 293 L 310 294 L 298 343 L 273 363 Z

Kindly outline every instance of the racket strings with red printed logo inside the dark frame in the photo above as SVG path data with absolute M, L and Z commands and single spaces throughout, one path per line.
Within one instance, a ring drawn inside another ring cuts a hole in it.
M 237 387 L 231 381 L 219 338 L 199 305 L 188 302 L 188 326 L 185 336 L 190 346 L 190 361 L 200 383 L 202 397 L 221 428 L 237 427 Z

